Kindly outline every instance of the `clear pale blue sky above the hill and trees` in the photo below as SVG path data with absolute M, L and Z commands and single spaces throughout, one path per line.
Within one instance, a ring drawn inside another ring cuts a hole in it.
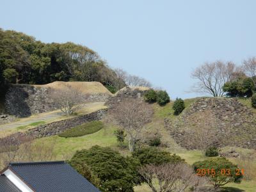
M 85 45 L 110 67 L 186 99 L 202 95 L 189 91 L 205 61 L 256 56 L 255 8 L 253 0 L 0 0 L 0 28 Z

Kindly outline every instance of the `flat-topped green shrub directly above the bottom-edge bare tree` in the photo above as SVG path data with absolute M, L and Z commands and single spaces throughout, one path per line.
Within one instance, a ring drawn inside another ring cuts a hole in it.
M 139 159 L 142 165 L 185 162 L 180 156 L 171 155 L 170 152 L 159 150 L 156 147 L 138 148 L 132 152 L 132 157 Z

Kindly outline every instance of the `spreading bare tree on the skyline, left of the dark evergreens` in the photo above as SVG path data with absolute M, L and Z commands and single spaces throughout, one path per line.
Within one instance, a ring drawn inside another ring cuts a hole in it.
M 236 66 L 232 62 L 215 61 L 205 63 L 196 68 L 191 74 L 194 79 L 198 80 L 193 91 L 207 93 L 213 97 L 221 97 L 224 94 L 222 90 L 224 83 L 230 81 L 235 71 Z

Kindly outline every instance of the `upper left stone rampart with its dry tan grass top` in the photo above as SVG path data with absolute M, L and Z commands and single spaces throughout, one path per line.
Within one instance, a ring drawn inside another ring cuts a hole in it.
M 105 102 L 112 93 L 99 82 L 63 82 L 49 84 L 12 84 L 6 93 L 6 111 L 10 115 L 25 117 L 56 109 L 50 89 L 63 90 L 66 85 L 82 92 L 84 102 Z

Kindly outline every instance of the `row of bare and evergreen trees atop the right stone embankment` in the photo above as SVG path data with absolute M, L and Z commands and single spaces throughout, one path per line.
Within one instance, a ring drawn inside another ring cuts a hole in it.
M 213 97 L 252 97 L 256 92 L 256 58 L 248 58 L 243 65 L 231 61 L 214 61 L 197 67 L 191 76 L 198 80 L 193 91 Z

